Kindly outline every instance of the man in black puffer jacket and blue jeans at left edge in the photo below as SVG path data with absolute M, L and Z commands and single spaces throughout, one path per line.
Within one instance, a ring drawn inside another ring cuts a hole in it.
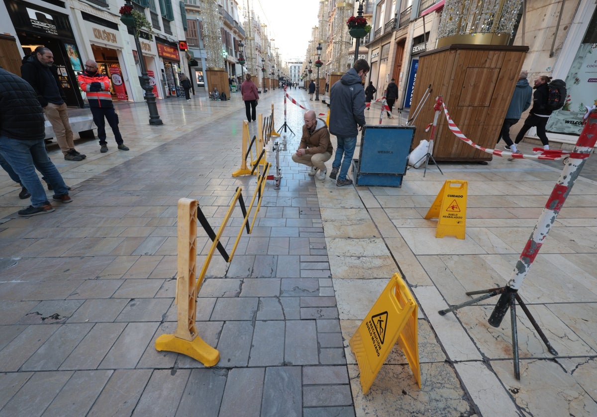
M 44 111 L 29 83 L 0 69 L 0 154 L 31 193 L 31 206 L 19 210 L 19 216 L 54 211 L 35 172 L 36 167 L 53 186 L 54 201 L 72 201 L 60 172 L 45 151 L 44 123 Z

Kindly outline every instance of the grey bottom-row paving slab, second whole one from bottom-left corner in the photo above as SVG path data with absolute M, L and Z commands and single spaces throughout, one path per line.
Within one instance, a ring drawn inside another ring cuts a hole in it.
M 82 415 L 90 410 L 113 371 L 76 371 L 64 385 L 44 416 Z M 77 393 L 73 396 L 73 393 Z

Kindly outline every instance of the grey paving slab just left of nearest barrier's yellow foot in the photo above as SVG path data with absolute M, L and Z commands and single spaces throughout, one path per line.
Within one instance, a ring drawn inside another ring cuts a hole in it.
M 135 368 L 157 328 L 158 323 L 128 323 L 98 368 Z

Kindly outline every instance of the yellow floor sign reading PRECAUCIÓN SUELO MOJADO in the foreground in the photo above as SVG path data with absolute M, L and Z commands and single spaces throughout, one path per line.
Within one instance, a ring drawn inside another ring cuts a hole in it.
M 364 394 L 369 392 L 396 341 L 407 357 L 418 387 L 421 387 L 417 310 L 413 295 L 401 276 L 395 273 L 349 341 L 350 350 L 355 354 L 361 371 Z

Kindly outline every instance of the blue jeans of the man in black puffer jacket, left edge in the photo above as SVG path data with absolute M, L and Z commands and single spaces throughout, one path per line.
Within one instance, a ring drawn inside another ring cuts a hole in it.
M 13 139 L 0 136 L 0 154 L 13 167 L 23 186 L 31 193 L 33 207 L 48 204 L 48 197 L 35 172 L 36 168 L 51 183 L 56 195 L 69 194 L 60 172 L 45 151 L 44 139 Z

